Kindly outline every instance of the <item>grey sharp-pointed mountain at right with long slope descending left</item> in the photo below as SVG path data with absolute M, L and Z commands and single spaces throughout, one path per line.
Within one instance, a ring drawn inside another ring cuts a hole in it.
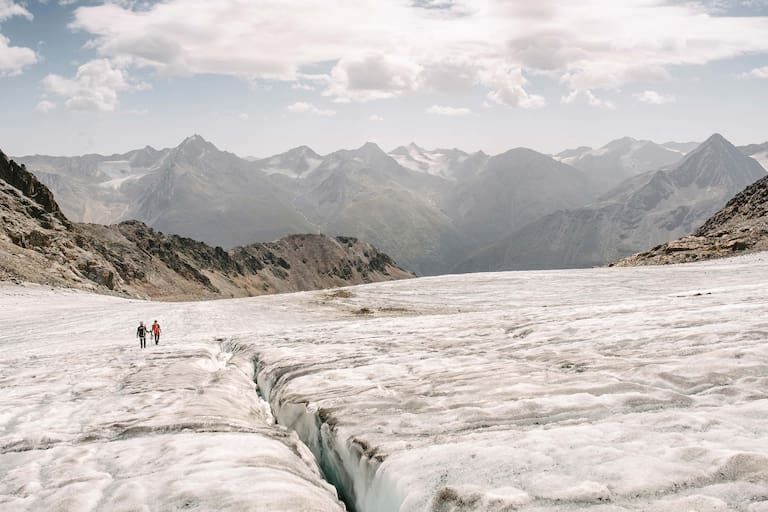
M 754 160 L 716 134 L 673 169 L 631 178 L 593 205 L 547 215 L 456 270 L 603 265 L 691 233 L 763 176 Z

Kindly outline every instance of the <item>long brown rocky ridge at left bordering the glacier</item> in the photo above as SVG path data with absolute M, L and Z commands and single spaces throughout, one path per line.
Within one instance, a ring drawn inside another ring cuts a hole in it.
M 138 221 L 73 224 L 25 168 L 2 155 L 0 172 L 0 280 L 188 300 L 413 276 L 354 238 L 294 235 L 226 251 Z

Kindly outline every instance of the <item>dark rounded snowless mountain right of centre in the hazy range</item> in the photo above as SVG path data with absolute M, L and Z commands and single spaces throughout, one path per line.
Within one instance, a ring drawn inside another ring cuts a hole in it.
M 525 148 L 489 158 L 452 191 L 446 209 L 475 246 L 486 245 L 560 208 L 594 198 L 577 169 Z

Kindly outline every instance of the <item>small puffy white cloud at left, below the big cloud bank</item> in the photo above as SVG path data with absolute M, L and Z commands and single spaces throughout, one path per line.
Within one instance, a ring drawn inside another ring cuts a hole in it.
M 118 93 L 143 90 L 147 84 L 135 82 L 107 59 L 87 62 L 77 68 L 74 78 L 48 75 L 43 79 L 46 92 L 66 98 L 69 110 L 112 112 L 118 104 Z

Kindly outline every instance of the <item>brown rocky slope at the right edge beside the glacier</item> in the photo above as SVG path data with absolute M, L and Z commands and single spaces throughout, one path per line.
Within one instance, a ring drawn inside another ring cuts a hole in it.
M 693 235 L 661 244 L 613 265 L 664 265 L 768 250 L 768 177 L 737 194 Z

